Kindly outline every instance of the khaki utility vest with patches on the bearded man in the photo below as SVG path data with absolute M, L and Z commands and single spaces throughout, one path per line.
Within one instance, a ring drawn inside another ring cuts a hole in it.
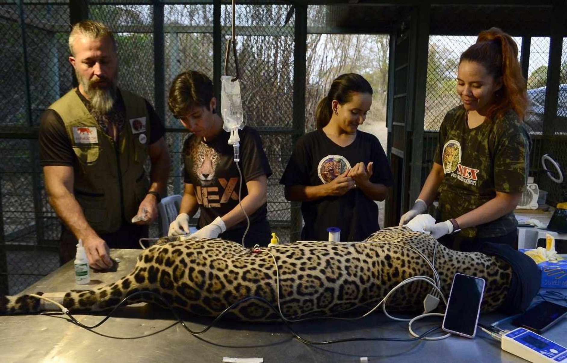
M 146 103 L 134 93 L 123 89 L 120 93 L 126 124 L 116 143 L 100 128 L 75 89 L 49 106 L 63 119 L 77 156 L 73 163 L 75 199 L 99 234 L 116 232 L 122 223 L 130 223 L 149 189 L 143 168 L 150 140 Z

